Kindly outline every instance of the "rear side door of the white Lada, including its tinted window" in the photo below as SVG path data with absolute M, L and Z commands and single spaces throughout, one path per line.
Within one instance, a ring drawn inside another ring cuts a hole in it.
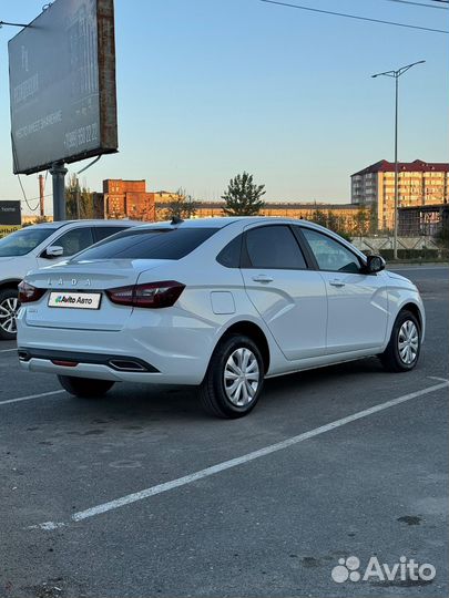
M 242 275 L 246 292 L 288 360 L 323 354 L 327 298 L 288 225 L 248 227 Z

